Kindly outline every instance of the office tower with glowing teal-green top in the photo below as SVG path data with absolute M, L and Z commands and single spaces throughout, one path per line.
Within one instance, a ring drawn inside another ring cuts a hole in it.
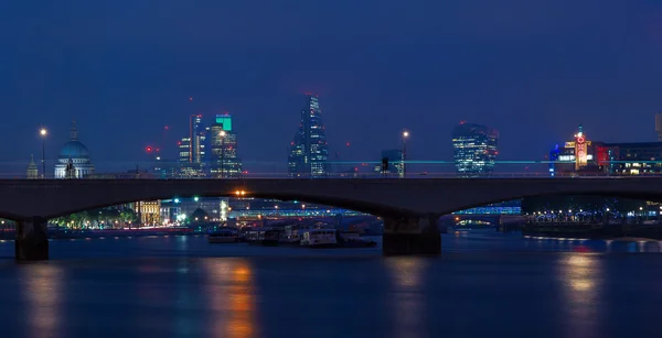
M 232 116 L 217 115 L 210 126 L 210 165 L 213 177 L 239 177 L 242 160 L 237 155 L 237 133 L 232 128 Z

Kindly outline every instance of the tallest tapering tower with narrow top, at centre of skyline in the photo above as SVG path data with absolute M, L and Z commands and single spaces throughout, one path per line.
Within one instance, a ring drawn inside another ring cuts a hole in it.
M 301 123 L 290 145 L 288 171 L 292 177 L 327 176 L 329 145 L 317 95 L 306 95 Z

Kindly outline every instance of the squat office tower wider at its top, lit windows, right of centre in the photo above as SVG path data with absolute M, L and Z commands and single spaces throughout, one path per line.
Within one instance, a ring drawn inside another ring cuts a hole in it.
M 461 177 L 485 176 L 494 170 L 499 132 L 487 126 L 460 122 L 452 131 L 456 173 Z

